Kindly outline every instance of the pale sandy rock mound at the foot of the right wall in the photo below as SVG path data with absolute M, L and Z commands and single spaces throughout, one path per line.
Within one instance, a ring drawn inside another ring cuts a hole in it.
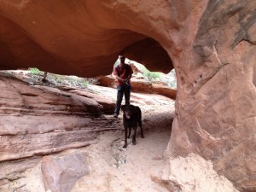
M 238 192 L 234 185 L 224 176 L 214 171 L 211 161 L 204 160 L 196 154 L 186 158 L 171 158 L 170 173 L 163 176 L 172 191 L 196 192 Z

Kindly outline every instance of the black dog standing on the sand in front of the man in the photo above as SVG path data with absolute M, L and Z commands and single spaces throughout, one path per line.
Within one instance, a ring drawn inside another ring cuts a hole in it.
M 127 147 L 127 131 L 128 133 L 128 138 L 131 135 L 131 128 L 133 128 L 134 133 L 132 137 L 132 144 L 136 144 L 136 131 L 137 131 L 137 124 L 141 128 L 141 137 L 144 138 L 143 136 L 143 125 L 142 125 L 142 111 L 139 107 L 134 106 L 134 105 L 123 105 L 121 107 L 122 111 L 124 112 L 123 114 L 123 124 L 125 127 L 125 145 L 123 148 Z

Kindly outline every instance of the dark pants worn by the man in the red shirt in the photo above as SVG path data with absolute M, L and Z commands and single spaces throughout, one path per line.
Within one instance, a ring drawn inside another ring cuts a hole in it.
M 117 87 L 117 100 L 116 100 L 116 104 L 115 104 L 115 109 L 114 109 L 114 113 L 119 115 L 119 111 L 121 108 L 121 103 L 123 100 L 123 96 L 125 93 L 125 105 L 129 105 L 130 104 L 130 95 L 131 95 L 131 85 L 119 85 Z

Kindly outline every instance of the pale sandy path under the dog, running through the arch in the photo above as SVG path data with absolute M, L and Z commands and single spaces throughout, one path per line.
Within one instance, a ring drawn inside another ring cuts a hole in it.
M 124 132 L 107 131 L 99 142 L 84 148 L 88 154 L 90 174 L 79 179 L 72 192 L 166 192 L 151 177 L 164 169 L 167 143 L 172 129 L 173 110 L 165 104 L 141 106 L 145 138 L 137 131 L 137 145 L 128 140 L 124 149 Z M 108 117 L 110 118 L 110 117 Z M 117 125 L 122 128 L 121 118 Z

